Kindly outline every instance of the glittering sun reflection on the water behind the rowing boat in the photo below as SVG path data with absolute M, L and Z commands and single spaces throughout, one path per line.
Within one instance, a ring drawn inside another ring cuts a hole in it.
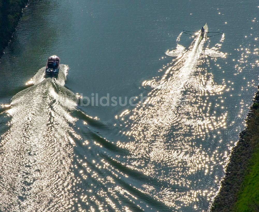
M 214 82 L 208 71 L 205 42 L 198 35 L 161 79 L 144 81 L 142 86 L 151 89 L 144 104 L 119 116 L 129 137 L 129 142 L 117 143 L 130 151 L 125 165 L 164 185 L 157 189 L 147 183 L 138 189 L 175 209 L 195 209 L 200 200 L 210 200 L 219 181 L 214 169 L 226 158 L 213 145 L 226 128 L 221 96 L 226 85 Z M 204 175 L 211 175 L 212 182 L 205 182 Z

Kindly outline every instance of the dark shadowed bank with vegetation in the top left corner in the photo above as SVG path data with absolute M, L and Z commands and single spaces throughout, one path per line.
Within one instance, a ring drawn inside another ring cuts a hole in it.
M 8 45 L 12 33 L 28 0 L 0 0 L 0 57 Z

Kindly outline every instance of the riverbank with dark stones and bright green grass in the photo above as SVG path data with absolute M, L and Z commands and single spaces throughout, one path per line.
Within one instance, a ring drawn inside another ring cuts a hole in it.
M 240 140 L 233 149 L 211 211 L 259 211 L 259 91 L 247 117 L 247 128 L 240 133 Z

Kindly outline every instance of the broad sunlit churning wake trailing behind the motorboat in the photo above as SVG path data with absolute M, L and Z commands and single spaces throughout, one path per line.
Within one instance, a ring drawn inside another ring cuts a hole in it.
M 70 172 L 77 105 L 64 88 L 68 66 L 60 65 L 55 78 L 44 78 L 11 99 L 9 130 L 1 136 L 0 210 L 70 211 Z

